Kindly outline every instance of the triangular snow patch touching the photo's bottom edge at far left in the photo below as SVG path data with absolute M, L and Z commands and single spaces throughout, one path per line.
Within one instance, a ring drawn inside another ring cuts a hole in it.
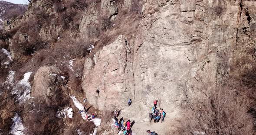
M 26 128 L 23 126 L 20 116 L 16 113 L 13 117 L 13 125 L 11 126 L 10 134 L 12 135 L 25 135 L 23 131 Z

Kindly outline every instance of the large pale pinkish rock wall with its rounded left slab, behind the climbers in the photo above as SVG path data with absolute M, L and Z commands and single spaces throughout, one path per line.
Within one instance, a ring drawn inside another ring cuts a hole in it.
M 249 38 L 243 27 L 255 29 L 256 2 L 240 2 L 147 0 L 131 54 L 120 36 L 85 60 L 82 87 L 89 102 L 103 111 L 126 110 L 131 97 L 136 111 L 123 114 L 147 118 L 154 99 L 175 112 L 184 90 L 193 96 L 194 88 L 218 86 L 229 74 L 234 50 L 246 44 L 237 39 Z

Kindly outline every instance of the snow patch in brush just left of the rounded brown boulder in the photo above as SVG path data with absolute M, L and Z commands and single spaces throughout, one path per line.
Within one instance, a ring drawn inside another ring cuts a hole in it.
M 30 83 L 28 82 L 28 80 L 30 79 L 30 75 L 32 73 L 33 72 L 25 73 L 23 75 L 24 78 L 17 83 L 17 85 L 24 87 L 25 91 L 23 93 L 21 93 L 21 90 L 18 90 L 18 88 L 14 89 L 12 91 L 12 94 L 16 94 L 18 96 L 18 101 L 20 103 L 23 103 L 23 101 L 26 101 L 31 98 L 31 96 L 30 96 L 31 86 L 30 86 Z

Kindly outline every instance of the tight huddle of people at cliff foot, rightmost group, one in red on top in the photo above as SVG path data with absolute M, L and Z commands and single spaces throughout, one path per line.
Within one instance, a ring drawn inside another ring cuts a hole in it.
M 160 110 L 156 109 L 157 103 L 158 103 L 158 100 L 154 100 L 154 106 L 151 109 L 152 113 L 149 113 L 149 118 L 150 118 L 150 122 L 152 121 L 152 119 L 154 119 L 154 122 L 159 122 L 161 119 L 161 123 L 162 123 L 164 121 L 166 113 L 162 108 L 160 108 Z

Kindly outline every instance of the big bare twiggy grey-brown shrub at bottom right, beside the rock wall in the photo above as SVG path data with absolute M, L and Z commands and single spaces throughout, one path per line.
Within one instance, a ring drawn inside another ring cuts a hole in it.
M 175 135 L 253 135 L 246 94 L 231 86 L 201 91 L 205 97 L 187 99 L 190 109 L 182 113 Z

